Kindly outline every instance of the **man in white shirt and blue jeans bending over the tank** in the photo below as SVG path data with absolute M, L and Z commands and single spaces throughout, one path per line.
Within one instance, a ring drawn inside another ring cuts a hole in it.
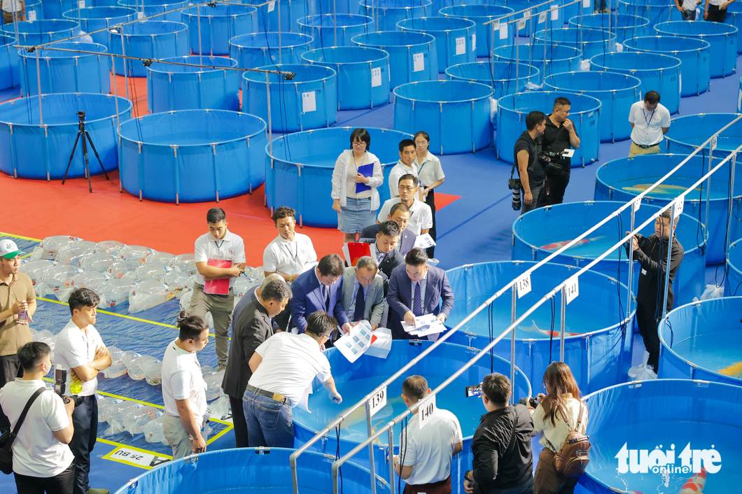
M 335 403 L 343 398 L 335 388 L 324 343 L 338 326 L 324 311 L 306 318 L 301 335 L 280 332 L 255 349 L 248 365 L 252 377 L 243 395 L 250 447 L 294 447 L 292 408 L 301 403 L 314 378 L 319 378 Z

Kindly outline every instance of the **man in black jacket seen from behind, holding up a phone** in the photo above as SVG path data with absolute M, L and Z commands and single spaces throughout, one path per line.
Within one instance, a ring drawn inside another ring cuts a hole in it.
M 543 115 L 543 113 L 542 113 Z M 482 404 L 471 451 L 473 470 L 464 473 L 467 494 L 530 494 L 533 491 L 533 420 L 521 404 L 508 405 L 510 380 L 493 373 L 482 381 Z

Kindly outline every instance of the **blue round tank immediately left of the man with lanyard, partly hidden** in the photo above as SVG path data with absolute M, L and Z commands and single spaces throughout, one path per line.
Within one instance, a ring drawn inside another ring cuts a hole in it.
M 641 81 L 634 76 L 604 70 L 565 72 L 548 76 L 544 89 L 567 90 L 600 99 L 600 142 L 623 141 L 631 136 L 626 115 L 640 99 Z

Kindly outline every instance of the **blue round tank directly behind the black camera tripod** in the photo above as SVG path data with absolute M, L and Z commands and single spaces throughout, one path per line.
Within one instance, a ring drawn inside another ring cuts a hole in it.
M 106 171 L 118 168 L 116 105 L 119 119 L 131 118 L 131 102 L 107 94 L 53 93 L 41 96 L 44 126 L 39 118 L 39 96 L 0 105 L 0 171 L 16 177 L 61 179 L 77 136 L 78 111 L 85 111 L 85 130 L 91 134 Z M 13 131 L 10 127 L 13 127 Z M 102 170 L 90 157 L 91 174 Z M 78 143 L 68 178 L 85 176 L 85 158 Z

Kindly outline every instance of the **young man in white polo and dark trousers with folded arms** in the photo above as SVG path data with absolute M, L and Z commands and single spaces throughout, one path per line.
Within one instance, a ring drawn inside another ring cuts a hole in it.
M 61 396 L 78 396 L 72 414 L 75 433 L 70 449 L 75 455 L 75 494 L 108 494 L 108 489 L 91 489 L 91 451 L 98 436 L 98 372 L 111 366 L 111 354 L 95 329 L 100 299 L 90 289 L 76 289 L 67 303 L 72 318 L 56 335 L 54 346 L 54 390 Z

